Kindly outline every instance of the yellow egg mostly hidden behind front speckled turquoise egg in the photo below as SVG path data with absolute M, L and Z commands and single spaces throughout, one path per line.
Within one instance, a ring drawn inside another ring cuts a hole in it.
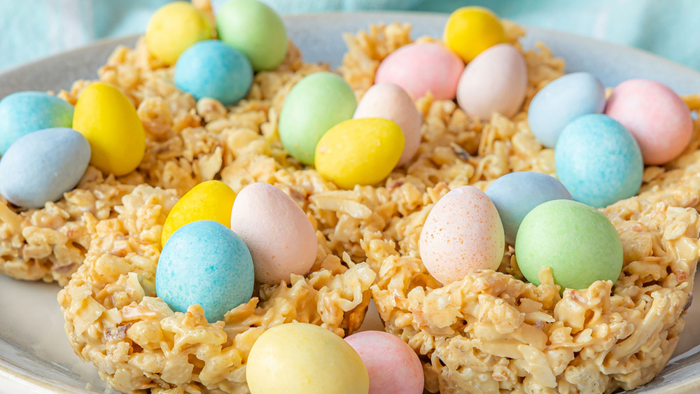
M 214 220 L 231 225 L 236 192 L 221 181 L 205 181 L 186 192 L 168 213 L 160 238 L 161 246 L 180 227 L 197 220 Z

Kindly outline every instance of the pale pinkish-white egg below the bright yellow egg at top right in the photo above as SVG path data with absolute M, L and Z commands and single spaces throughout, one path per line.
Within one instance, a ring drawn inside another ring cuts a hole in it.
M 494 113 L 510 118 L 525 100 L 527 81 L 520 52 L 510 44 L 493 45 L 465 67 L 457 85 L 457 103 L 481 120 L 490 120 Z

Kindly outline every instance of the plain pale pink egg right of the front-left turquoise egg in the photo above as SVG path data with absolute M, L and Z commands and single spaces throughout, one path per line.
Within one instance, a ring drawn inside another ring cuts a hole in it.
M 260 283 L 290 283 L 316 261 L 316 230 L 293 199 L 268 183 L 251 183 L 238 193 L 231 230 L 248 245 Z

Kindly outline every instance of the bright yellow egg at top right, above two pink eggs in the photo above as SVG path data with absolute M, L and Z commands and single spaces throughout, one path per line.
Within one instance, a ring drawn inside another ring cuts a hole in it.
M 459 8 L 449 15 L 442 39 L 464 62 L 471 62 L 484 50 L 506 42 L 498 16 L 488 8 L 474 6 Z

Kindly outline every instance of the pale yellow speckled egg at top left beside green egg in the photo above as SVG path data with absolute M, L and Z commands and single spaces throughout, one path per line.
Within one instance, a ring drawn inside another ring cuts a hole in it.
M 211 22 L 187 1 L 169 3 L 151 17 L 146 28 L 148 51 L 167 64 L 175 64 L 182 52 L 197 41 L 211 38 Z

